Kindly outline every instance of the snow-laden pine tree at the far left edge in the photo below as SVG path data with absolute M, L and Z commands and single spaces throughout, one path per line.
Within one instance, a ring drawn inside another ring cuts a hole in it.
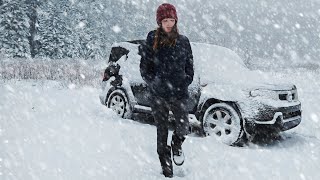
M 0 53 L 30 57 L 29 22 L 24 1 L 4 0 L 0 7 Z

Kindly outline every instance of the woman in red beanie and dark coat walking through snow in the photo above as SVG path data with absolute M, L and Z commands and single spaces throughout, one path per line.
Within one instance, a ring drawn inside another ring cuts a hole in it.
M 177 28 L 177 12 L 164 3 L 157 9 L 157 30 L 148 33 L 140 46 L 140 72 L 152 95 L 152 114 L 157 126 L 157 152 L 163 174 L 173 176 L 171 150 L 176 165 L 182 165 L 182 143 L 189 133 L 186 101 L 188 86 L 193 81 L 193 56 L 187 37 Z M 171 147 L 167 145 L 169 110 L 175 118 Z

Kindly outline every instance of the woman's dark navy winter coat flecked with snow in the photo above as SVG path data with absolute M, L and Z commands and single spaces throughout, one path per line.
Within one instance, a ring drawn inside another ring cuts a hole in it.
M 175 45 L 154 51 L 155 32 L 149 32 L 146 44 L 139 47 L 141 76 L 155 96 L 165 99 L 188 98 L 188 86 L 194 74 L 189 39 L 179 35 Z

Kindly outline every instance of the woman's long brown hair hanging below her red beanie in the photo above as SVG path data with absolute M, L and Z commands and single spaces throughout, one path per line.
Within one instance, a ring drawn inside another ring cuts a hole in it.
M 173 26 L 171 32 L 166 33 L 161 25 L 157 28 L 154 42 L 153 42 L 153 50 L 157 50 L 163 46 L 172 46 L 176 45 L 177 39 L 179 37 L 179 31 L 177 27 L 177 23 Z

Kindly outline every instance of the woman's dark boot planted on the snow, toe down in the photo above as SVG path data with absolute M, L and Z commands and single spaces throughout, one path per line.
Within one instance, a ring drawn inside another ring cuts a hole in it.
M 173 177 L 171 147 L 166 146 L 163 152 L 158 152 L 162 167 L 162 172 L 165 177 Z

